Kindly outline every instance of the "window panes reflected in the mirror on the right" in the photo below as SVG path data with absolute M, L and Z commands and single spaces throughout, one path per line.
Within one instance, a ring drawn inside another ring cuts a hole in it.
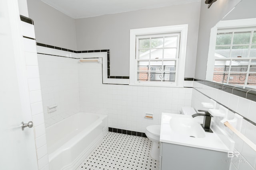
M 256 27 L 217 30 L 213 81 L 242 87 L 256 86 Z

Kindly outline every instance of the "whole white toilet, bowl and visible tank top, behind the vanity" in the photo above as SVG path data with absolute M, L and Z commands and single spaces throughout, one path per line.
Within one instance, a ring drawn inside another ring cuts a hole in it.
M 193 115 L 196 113 L 196 111 L 192 107 L 182 107 L 180 113 L 184 115 Z M 159 160 L 160 156 L 160 129 L 160 125 L 150 125 L 146 127 L 146 136 L 148 139 L 150 139 L 150 141 L 153 142 L 150 156 L 155 160 Z

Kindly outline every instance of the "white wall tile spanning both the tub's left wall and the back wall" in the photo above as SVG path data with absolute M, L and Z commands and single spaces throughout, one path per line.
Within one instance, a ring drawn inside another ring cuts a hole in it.
M 108 114 L 109 127 L 145 132 L 146 126 L 160 124 L 162 112 L 180 113 L 182 106 L 191 106 L 192 88 L 120 85 L 122 81 L 128 84 L 128 79 L 114 78 L 107 83 L 118 84 L 102 84 L 102 74 L 106 76 L 107 71 L 106 52 L 69 54 L 41 46 L 37 49 L 43 53 L 38 54 L 38 63 L 46 127 L 80 110 Z M 99 57 L 102 64 L 52 55 Z M 55 104 L 57 111 L 48 113 L 47 106 Z M 154 113 L 154 119 L 145 119 L 145 113 Z

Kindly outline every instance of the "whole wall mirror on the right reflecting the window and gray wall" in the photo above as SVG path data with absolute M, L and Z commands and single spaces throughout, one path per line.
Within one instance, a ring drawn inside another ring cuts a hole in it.
M 255 6 L 242 0 L 211 29 L 206 80 L 256 89 Z

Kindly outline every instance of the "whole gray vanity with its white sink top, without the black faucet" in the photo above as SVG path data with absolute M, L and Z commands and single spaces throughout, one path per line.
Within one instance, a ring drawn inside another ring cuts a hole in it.
M 218 126 L 205 132 L 190 115 L 162 113 L 160 170 L 229 170 L 234 141 Z

